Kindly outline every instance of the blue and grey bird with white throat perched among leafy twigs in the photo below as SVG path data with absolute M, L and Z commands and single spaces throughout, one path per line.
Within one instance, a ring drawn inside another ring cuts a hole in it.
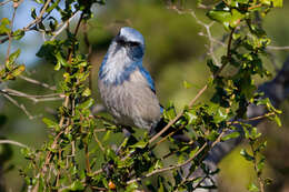
M 98 89 L 107 111 L 124 127 L 146 129 L 150 135 L 165 127 L 155 82 L 142 65 L 143 36 L 122 27 L 112 39 L 98 73 Z

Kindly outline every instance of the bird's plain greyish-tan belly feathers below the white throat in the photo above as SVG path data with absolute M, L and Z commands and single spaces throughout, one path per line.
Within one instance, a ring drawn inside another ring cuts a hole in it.
M 99 80 L 99 91 L 108 111 L 122 124 L 150 129 L 160 119 L 159 101 L 139 70 L 118 84 Z

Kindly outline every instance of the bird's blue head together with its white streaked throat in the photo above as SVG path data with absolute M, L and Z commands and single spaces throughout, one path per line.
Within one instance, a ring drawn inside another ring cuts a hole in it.
M 130 72 L 142 67 L 143 54 L 142 34 L 129 27 L 121 28 L 101 63 L 99 79 L 106 83 L 121 83 Z

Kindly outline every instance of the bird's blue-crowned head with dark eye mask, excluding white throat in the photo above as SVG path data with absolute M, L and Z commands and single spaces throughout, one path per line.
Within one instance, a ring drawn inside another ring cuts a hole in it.
M 136 29 L 121 28 L 118 36 L 113 39 L 113 54 L 124 52 L 131 60 L 140 60 L 144 53 L 144 40 L 142 34 Z

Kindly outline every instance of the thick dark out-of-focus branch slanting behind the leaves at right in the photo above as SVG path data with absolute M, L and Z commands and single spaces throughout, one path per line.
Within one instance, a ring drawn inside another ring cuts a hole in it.
M 263 97 L 269 98 L 275 108 L 278 108 L 281 102 L 283 102 L 289 97 L 289 57 L 283 63 L 283 67 L 277 74 L 277 77 L 272 81 L 261 84 L 258 91 L 263 92 Z M 265 120 L 266 117 L 269 117 L 271 114 L 267 113 L 267 110 L 263 107 L 249 105 L 247 115 L 249 118 L 248 121 L 250 121 L 249 123 L 252 127 L 257 127 L 261 121 Z M 205 163 L 211 170 L 216 170 L 218 163 L 242 142 L 242 140 L 245 139 L 242 129 L 239 128 L 238 131 L 241 133 L 239 138 L 218 143 L 209 152 L 208 156 L 205 160 Z M 188 170 L 189 168 L 186 168 L 183 171 L 188 173 Z M 191 178 L 196 178 L 197 175 L 205 176 L 206 173 L 203 173 L 201 170 L 198 170 L 198 172 L 193 173 Z M 217 182 L 217 175 L 212 179 L 215 182 Z

